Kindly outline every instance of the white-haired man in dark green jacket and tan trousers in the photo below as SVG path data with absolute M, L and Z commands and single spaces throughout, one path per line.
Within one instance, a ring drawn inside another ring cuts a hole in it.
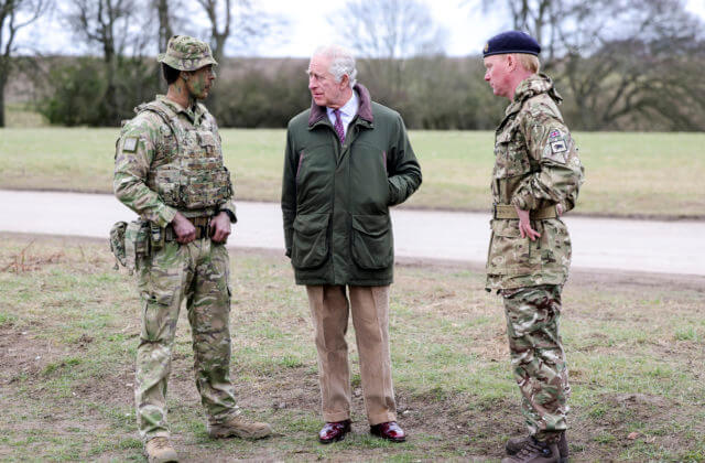
M 348 312 L 357 337 L 370 432 L 404 441 L 389 353 L 394 245 L 389 207 L 421 184 L 398 112 L 356 84 L 352 54 L 318 49 L 308 65 L 311 109 L 289 122 L 282 213 L 286 256 L 305 284 L 315 327 L 323 443 L 350 430 Z

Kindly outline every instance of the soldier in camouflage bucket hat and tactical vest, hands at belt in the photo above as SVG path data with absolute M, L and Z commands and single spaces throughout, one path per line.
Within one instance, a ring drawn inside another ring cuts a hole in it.
M 206 43 L 183 35 L 169 41 L 159 62 L 169 91 L 135 108 L 137 116 L 123 126 L 113 187 L 116 196 L 143 220 L 133 244 L 142 298 L 134 390 L 138 426 L 149 460 L 173 461 L 166 385 L 184 299 L 196 387 L 209 434 L 263 438 L 271 429 L 239 417 L 230 381 L 230 274 L 225 241 L 236 222 L 232 186 L 216 121 L 197 101 L 208 95 L 217 63 Z

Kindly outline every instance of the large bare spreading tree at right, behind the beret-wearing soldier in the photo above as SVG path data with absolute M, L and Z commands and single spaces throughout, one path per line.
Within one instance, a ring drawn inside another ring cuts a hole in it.
M 489 1 L 481 4 L 487 9 Z M 681 129 L 703 127 L 704 117 L 692 117 L 693 107 L 683 104 L 685 98 L 705 111 L 688 71 L 694 61 L 703 65 L 703 23 L 682 0 L 501 4 L 514 29 L 541 43 L 544 68 L 572 94 L 566 114 L 578 127 L 619 129 L 655 117 Z

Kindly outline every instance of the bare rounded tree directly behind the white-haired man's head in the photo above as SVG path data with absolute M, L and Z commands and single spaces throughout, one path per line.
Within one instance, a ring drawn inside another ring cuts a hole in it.
M 419 0 L 349 0 L 330 25 L 366 57 L 368 85 L 382 101 L 403 99 L 409 60 L 443 54 L 447 35 Z

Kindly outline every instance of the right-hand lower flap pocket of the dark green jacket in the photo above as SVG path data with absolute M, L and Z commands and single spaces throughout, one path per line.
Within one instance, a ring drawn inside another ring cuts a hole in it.
M 389 215 L 352 216 L 352 259 L 368 270 L 389 267 L 394 259 L 394 239 Z

